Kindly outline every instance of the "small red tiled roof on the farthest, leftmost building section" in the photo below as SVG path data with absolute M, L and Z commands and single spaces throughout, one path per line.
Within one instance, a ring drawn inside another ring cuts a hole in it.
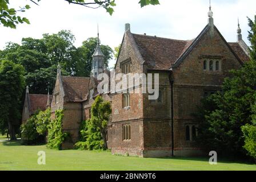
M 50 96 L 50 100 L 53 96 Z M 29 112 L 35 113 L 38 109 L 46 110 L 47 95 L 42 94 L 29 94 Z

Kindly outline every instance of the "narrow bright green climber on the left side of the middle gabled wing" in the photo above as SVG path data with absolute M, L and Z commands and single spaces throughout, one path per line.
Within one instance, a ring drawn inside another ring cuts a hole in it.
M 55 150 L 61 150 L 61 144 L 64 142 L 67 137 L 67 133 L 62 132 L 62 119 L 63 119 L 63 110 L 55 111 L 55 119 L 50 122 L 48 138 L 47 138 L 47 147 Z

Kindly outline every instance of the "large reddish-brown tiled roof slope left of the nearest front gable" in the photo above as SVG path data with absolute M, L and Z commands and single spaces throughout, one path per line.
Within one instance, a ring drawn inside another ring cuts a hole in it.
M 139 52 L 149 69 L 170 69 L 171 64 L 186 51 L 193 40 L 174 40 L 133 34 Z

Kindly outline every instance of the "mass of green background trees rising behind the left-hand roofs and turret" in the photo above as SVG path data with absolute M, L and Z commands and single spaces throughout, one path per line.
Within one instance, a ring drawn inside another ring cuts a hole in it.
M 57 75 L 57 65 L 61 64 L 63 76 L 89 77 L 91 61 L 97 46 L 97 38 L 89 38 L 76 48 L 74 35 L 67 30 L 57 34 L 43 34 L 42 39 L 23 38 L 22 44 L 7 43 L 0 52 L 1 59 L 11 60 L 25 68 L 26 85 L 30 93 L 47 94 L 47 87 L 53 90 Z M 108 67 L 113 50 L 101 45 Z

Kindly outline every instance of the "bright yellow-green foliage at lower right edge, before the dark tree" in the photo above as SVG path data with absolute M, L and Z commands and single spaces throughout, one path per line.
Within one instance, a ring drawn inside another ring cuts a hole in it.
M 244 148 L 248 154 L 256 160 L 256 126 L 245 125 L 242 126 L 243 137 L 245 137 Z

